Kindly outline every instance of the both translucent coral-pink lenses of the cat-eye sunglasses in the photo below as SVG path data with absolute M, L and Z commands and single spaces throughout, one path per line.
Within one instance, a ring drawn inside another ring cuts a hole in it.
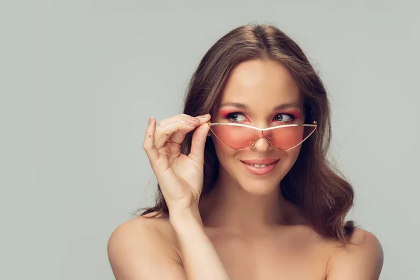
M 247 148 L 256 139 L 264 136 L 274 147 L 286 151 L 301 144 L 314 133 L 316 127 L 278 127 L 274 130 L 266 130 L 262 134 L 260 130 L 236 125 L 213 125 L 210 130 L 219 140 L 236 150 Z

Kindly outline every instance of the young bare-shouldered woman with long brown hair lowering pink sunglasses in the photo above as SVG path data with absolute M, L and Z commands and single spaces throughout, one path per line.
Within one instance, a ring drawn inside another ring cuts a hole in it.
M 381 245 L 344 221 L 353 189 L 329 142 L 327 94 L 299 46 L 271 25 L 230 31 L 183 114 L 149 120 L 160 193 L 111 235 L 116 279 L 379 279 Z

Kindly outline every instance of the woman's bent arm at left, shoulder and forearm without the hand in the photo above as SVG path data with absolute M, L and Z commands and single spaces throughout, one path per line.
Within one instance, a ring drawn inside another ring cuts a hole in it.
M 108 242 L 116 280 L 230 280 L 198 211 L 172 213 L 169 218 L 181 258 L 169 240 L 167 221 L 139 217 L 120 225 Z

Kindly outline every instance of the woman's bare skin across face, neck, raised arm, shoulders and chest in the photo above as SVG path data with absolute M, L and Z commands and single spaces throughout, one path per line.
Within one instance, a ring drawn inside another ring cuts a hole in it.
M 223 106 L 229 102 L 245 104 L 248 111 L 236 114 L 235 120 L 256 127 L 284 123 L 288 117 L 273 111 L 273 106 L 279 104 L 291 104 L 293 111 L 300 112 L 291 121 L 302 123 L 304 119 L 297 85 L 285 67 L 272 61 L 254 60 L 237 66 L 225 87 L 220 108 L 236 112 L 231 104 Z M 226 121 L 220 110 L 212 114 L 213 123 Z M 204 148 L 207 120 L 202 117 L 195 124 L 201 136 L 197 136 L 197 146 L 192 148 L 195 161 L 187 161 L 191 165 L 188 170 L 202 160 L 197 151 Z M 162 128 L 158 127 L 155 135 L 158 150 L 169 134 L 165 127 L 181 127 L 186 121 L 186 116 L 176 116 L 159 125 Z M 183 135 L 173 139 L 180 143 Z M 113 232 L 109 259 L 116 279 L 379 279 L 383 254 L 372 233 L 356 228 L 352 244 L 340 246 L 314 232 L 300 210 L 281 197 L 279 182 L 293 166 L 300 147 L 279 151 L 265 139 L 243 151 L 235 151 L 217 139 L 214 144 L 221 162 L 219 179 L 200 204 L 200 168 L 187 173 L 176 165 L 171 170 L 179 177 L 165 177 L 168 172 L 162 175 L 159 168 L 166 163 L 153 166 L 171 218 L 139 217 Z M 152 162 L 159 162 L 157 152 L 153 154 L 147 147 L 146 151 Z M 258 177 L 249 174 L 241 163 L 255 158 L 278 158 L 280 162 L 274 172 Z M 184 181 L 195 184 L 186 188 Z M 196 207 L 190 207 L 192 204 Z

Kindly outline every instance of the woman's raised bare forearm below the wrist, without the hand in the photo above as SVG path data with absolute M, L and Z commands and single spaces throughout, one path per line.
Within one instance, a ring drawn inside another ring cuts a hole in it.
M 198 209 L 171 213 L 169 221 L 179 241 L 183 267 L 188 280 L 231 279 L 204 230 Z

